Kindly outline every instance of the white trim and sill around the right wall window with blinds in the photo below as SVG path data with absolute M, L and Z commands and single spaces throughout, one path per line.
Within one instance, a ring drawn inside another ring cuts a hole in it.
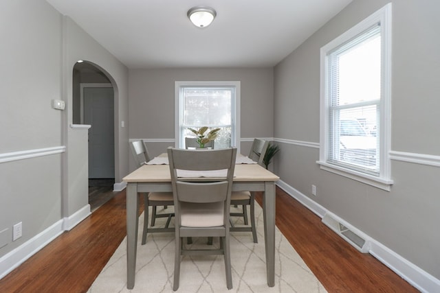
M 376 23 L 381 26 L 381 98 L 380 98 L 380 172 L 373 176 L 364 172 L 334 165 L 328 159 L 329 93 L 328 54 L 334 48 L 362 34 Z M 364 19 L 344 34 L 338 36 L 320 49 L 320 159 L 316 163 L 321 169 L 358 180 L 374 187 L 391 190 L 391 3 Z

